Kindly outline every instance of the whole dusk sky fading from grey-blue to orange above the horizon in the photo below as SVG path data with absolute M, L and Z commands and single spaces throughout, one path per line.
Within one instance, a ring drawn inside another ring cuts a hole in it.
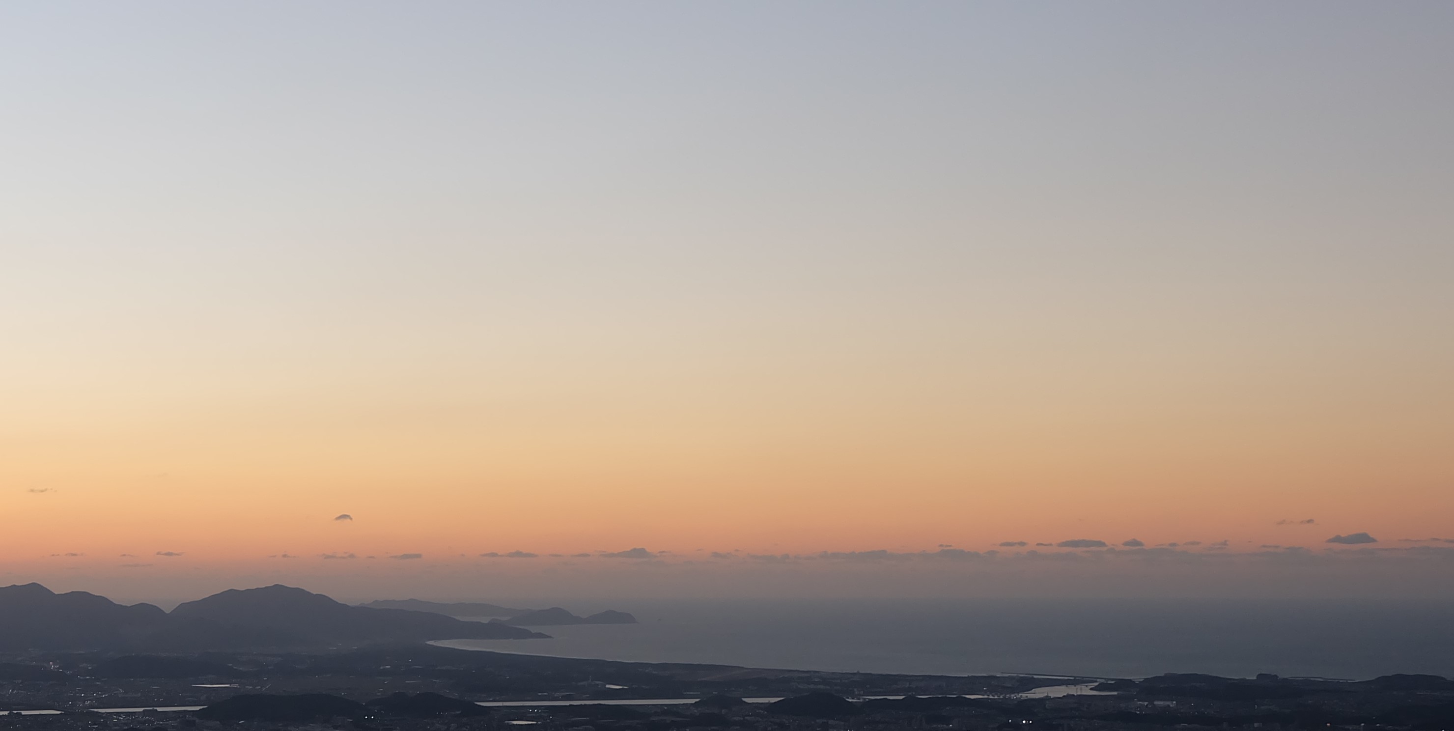
M 1451 28 L 7 4 L 0 583 L 1434 591 Z

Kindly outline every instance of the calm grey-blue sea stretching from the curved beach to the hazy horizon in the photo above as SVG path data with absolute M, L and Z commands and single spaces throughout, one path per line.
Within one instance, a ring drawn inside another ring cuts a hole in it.
M 1454 676 L 1454 605 L 1250 600 L 560 602 L 638 625 L 449 647 L 865 673 Z

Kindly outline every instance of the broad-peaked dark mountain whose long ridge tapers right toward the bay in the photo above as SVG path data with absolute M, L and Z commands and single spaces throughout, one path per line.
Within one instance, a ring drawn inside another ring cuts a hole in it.
M 222 626 L 266 629 L 300 639 L 334 644 L 545 637 L 510 625 L 464 622 L 432 612 L 348 606 L 323 594 L 282 584 L 228 589 L 206 599 L 179 605 L 170 616 L 206 619 Z

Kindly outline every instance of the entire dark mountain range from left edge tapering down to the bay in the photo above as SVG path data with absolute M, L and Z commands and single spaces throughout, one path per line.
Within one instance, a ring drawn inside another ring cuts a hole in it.
M 348 606 L 302 589 L 228 590 L 172 613 L 41 584 L 0 587 L 0 651 L 201 653 L 547 637 L 429 612 Z

